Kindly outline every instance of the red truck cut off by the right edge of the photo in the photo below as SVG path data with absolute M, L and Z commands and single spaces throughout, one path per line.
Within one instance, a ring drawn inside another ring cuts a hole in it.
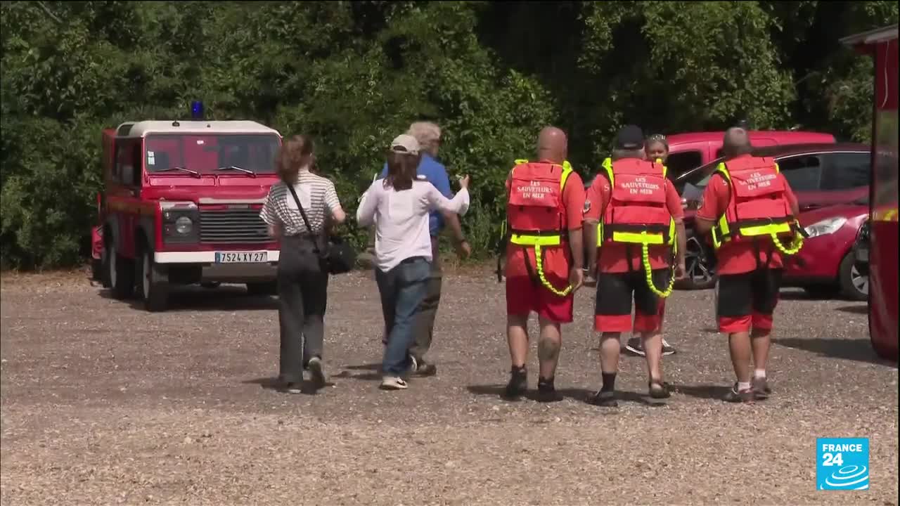
M 897 25 L 842 40 L 875 58 L 872 184 L 869 194 L 869 336 L 897 359 Z

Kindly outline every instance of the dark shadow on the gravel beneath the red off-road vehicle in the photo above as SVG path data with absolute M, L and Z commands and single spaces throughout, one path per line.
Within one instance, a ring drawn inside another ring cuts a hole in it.
M 117 301 L 108 289 L 100 291 L 104 299 Z M 144 305 L 137 297 L 125 301 L 131 309 L 143 311 Z M 278 299 L 276 297 L 248 295 L 247 291 L 237 287 L 223 287 L 212 290 L 184 289 L 169 294 L 169 303 L 166 312 L 191 312 L 191 311 L 277 311 Z

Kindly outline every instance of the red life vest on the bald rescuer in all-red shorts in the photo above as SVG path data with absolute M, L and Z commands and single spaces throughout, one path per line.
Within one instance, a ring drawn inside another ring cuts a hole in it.
M 564 178 L 572 169 L 548 162 L 518 163 L 509 174 L 509 231 L 561 234 L 565 222 Z

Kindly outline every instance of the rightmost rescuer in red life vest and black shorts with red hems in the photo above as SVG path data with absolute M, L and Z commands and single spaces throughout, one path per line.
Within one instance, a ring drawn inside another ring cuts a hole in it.
M 704 191 L 697 231 L 713 234 L 718 259 L 716 314 L 719 331 L 728 334 L 737 376 L 725 401 L 752 402 L 771 393 L 766 361 L 783 255 L 796 253 L 802 245 L 797 242 L 797 197 L 772 158 L 751 155 L 743 129 L 726 131 L 722 149 L 726 159 Z M 797 246 L 785 246 L 791 236 Z

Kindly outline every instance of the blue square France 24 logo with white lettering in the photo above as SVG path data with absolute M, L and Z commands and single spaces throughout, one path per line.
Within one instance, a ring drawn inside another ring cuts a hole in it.
M 815 482 L 819 490 L 869 490 L 869 438 L 817 438 Z

